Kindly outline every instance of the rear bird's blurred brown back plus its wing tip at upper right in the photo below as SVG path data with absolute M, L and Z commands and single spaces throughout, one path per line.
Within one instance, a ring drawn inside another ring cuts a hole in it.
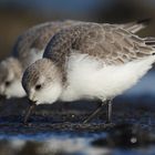
M 136 33 L 141 29 L 144 29 L 149 22 L 149 19 L 141 20 L 136 22 L 130 22 L 125 24 L 115 24 L 122 29 L 125 29 L 132 33 Z M 17 58 L 27 58 L 30 49 L 37 49 L 41 51 L 45 48 L 46 43 L 50 41 L 51 37 L 54 35 L 62 28 L 70 25 L 75 25 L 79 23 L 84 23 L 82 21 L 66 20 L 63 22 L 45 22 L 42 24 L 34 25 L 28 29 L 23 34 L 21 34 L 14 46 L 12 54 Z

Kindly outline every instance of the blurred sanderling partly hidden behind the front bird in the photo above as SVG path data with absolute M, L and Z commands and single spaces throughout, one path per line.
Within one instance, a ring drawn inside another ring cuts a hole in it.
M 0 63 L 0 94 L 7 99 L 24 96 L 25 92 L 21 85 L 24 69 L 42 58 L 44 48 L 55 32 L 74 23 L 75 21 L 71 20 L 41 23 L 21 34 L 11 56 Z

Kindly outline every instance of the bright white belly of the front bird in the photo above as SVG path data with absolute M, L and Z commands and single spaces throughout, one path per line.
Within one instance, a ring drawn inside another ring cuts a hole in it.
M 63 101 L 114 97 L 132 87 L 155 62 L 155 56 L 122 65 L 104 65 L 86 55 L 72 55 L 68 63 L 68 87 Z

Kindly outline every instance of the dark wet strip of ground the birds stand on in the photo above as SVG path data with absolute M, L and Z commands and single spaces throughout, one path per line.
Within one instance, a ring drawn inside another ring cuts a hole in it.
M 155 131 L 155 107 L 149 100 L 152 96 L 141 96 L 140 99 L 130 99 L 121 96 L 113 103 L 113 123 L 134 123 Z M 146 102 L 145 102 L 146 101 Z M 100 102 L 81 101 L 75 103 L 55 103 L 53 105 L 39 105 L 29 122 L 31 126 L 22 124 L 25 110 L 28 108 L 27 99 L 1 100 L 0 103 L 0 133 L 6 130 L 9 133 L 33 133 L 45 131 L 104 131 L 111 125 L 105 125 L 106 110 L 92 120 L 89 124 L 82 124 L 83 121 L 100 105 Z M 16 127 L 17 126 L 17 127 Z M 27 130 L 29 128 L 29 130 Z

